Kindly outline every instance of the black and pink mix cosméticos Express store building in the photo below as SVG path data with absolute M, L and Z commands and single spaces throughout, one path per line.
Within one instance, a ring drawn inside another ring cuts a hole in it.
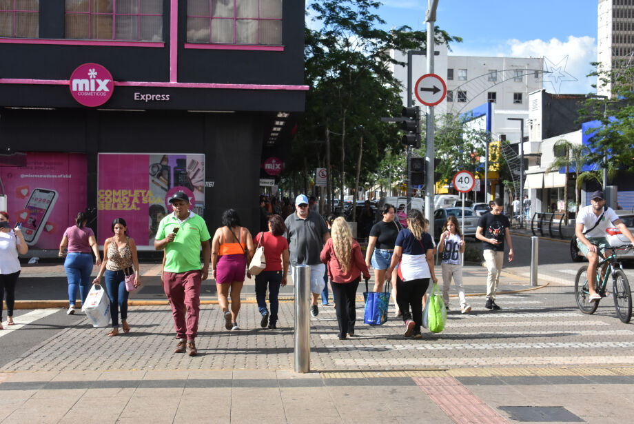
M 19 6 L 19 9 L 17 6 Z M 258 227 L 304 110 L 304 1 L 0 2 L 0 189 L 33 248 L 80 210 L 140 249 L 177 190 Z

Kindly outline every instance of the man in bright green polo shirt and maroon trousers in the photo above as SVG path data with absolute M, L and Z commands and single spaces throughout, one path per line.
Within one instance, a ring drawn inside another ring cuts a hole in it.
M 161 219 L 154 248 L 165 250 L 163 289 L 172 306 L 178 339 L 174 353 L 187 351 L 189 356 L 196 356 L 198 350 L 194 339 L 198 332 L 201 284 L 209 273 L 211 236 L 203 218 L 190 211 L 190 199 L 185 192 L 174 193 L 170 203 L 174 212 Z

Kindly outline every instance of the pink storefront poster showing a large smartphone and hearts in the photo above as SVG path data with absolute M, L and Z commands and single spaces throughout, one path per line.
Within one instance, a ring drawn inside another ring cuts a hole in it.
M 0 181 L 12 225 L 26 243 L 57 249 L 66 228 L 86 208 L 86 157 L 76 153 L 26 152 L 3 157 Z

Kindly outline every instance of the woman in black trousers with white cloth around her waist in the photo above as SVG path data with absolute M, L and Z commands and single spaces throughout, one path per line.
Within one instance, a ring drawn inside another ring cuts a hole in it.
M 407 228 L 398 233 L 387 275 L 400 262 L 396 275 L 396 302 L 405 322 L 405 337 L 420 339 L 422 324 L 422 295 L 429 279 L 437 283 L 433 272 L 433 241 L 425 232 L 425 218 L 419 210 L 407 214 Z M 411 308 L 411 312 L 410 312 Z

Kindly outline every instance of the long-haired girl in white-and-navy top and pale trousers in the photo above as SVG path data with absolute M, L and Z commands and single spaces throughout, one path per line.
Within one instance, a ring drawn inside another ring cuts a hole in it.
M 447 222 L 444 223 L 440 241 L 438 241 L 438 253 L 442 253 L 442 301 L 449 310 L 449 287 L 451 279 L 456 282 L 456 290 L 458 290 L 458 299 L 460 299 L 460 312 L 467 314 L 471 310 L 471 306 L 467 305 L 467 299 L 464 297 L 464 287 L 462 287 L 462 258 L 464 253 L 464 239 L 460 234 L 458 227 L 458 219 L 456 216 L 449 215 Z

